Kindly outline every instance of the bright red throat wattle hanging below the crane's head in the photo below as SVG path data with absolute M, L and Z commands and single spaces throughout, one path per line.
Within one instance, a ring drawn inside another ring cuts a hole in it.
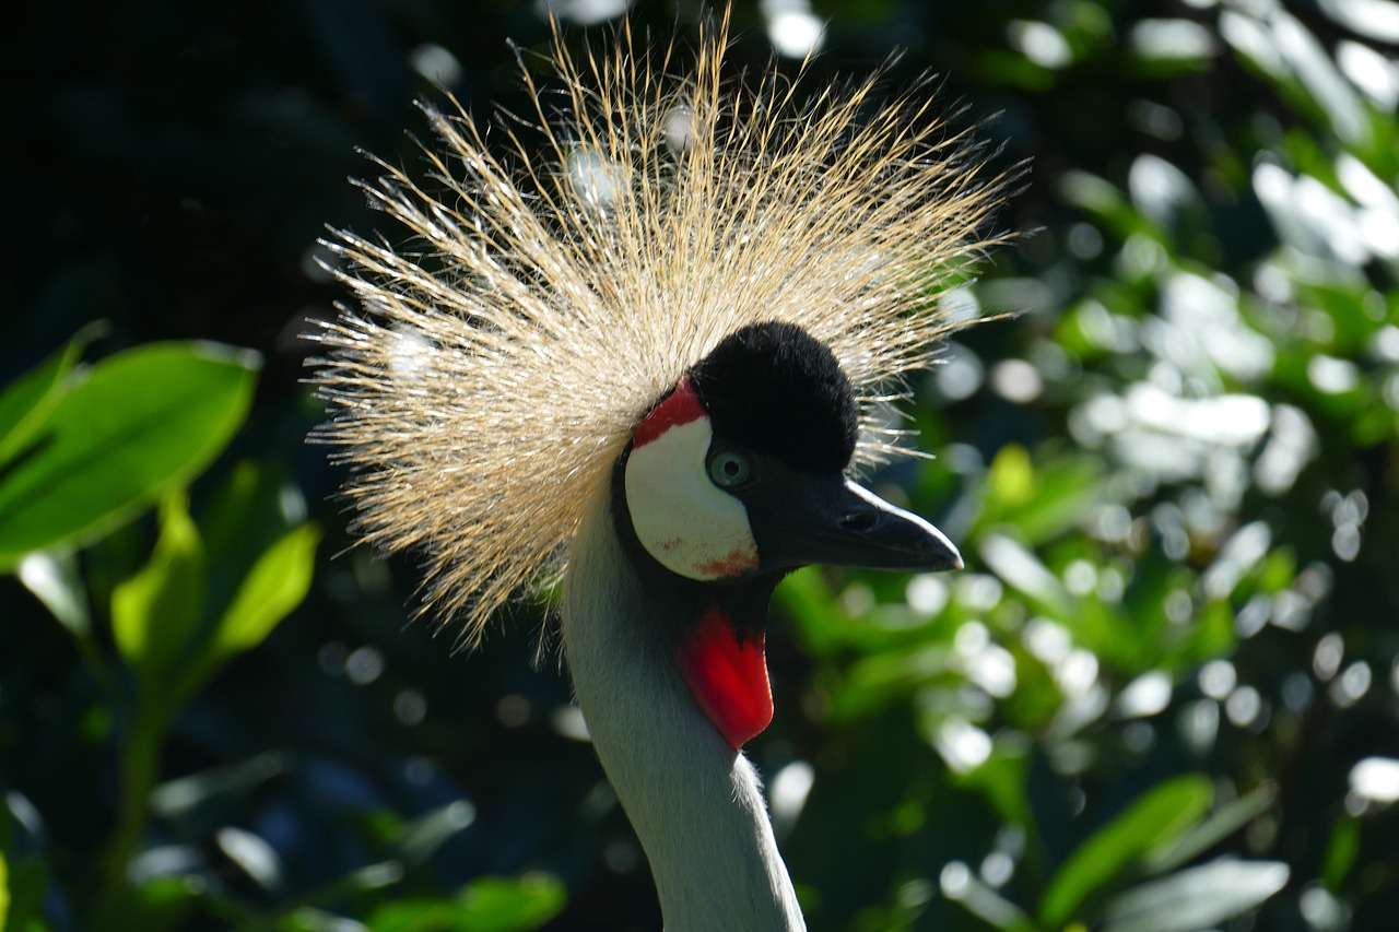
M 762 630 L 739 640 L 729 616 L 711 610 L 679 651 L 695 702 L 733 750 L 772 722 Z

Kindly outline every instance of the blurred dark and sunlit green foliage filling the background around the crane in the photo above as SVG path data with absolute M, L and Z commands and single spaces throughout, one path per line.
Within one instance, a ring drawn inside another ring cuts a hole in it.
M 302 442 L 315 239 L 383 227 L 355 147 L 416 158 L 424 73 L 519 102 L 539 7 L 80 7 L 32 11 L 4 155 L 0 925 L 659 926 L 543 617 L 404 627 Z M 1389 928 L 1395 8 L 818 6 L 818 76 L 901 46 L 1030 167 L 949 299 L 1020 316 L 874 477 L 968 570 L 778 593 L 750 753 L 813 929 Z

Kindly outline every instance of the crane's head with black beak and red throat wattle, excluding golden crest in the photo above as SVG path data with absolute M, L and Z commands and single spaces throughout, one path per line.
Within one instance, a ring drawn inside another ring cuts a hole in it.
M 680 592 L 676 662 L 734 750 L 772 719 L 764 614 L 783 574 L 961 567 L 937 528 L 846 476 L 858 434 L 831 350 L 796 325 L 755 323 L 680 379 L 617 465 L 618 532 L 655 588 Z

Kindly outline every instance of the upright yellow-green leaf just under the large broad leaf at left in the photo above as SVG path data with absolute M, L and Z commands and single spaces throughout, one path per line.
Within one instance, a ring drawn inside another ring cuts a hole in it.
M 159 523 L 150 563 L 112 591 L 116 647 L 150 686 L 185 654 L 204 603 L 204 546 L 185 493 L 165 495 Z

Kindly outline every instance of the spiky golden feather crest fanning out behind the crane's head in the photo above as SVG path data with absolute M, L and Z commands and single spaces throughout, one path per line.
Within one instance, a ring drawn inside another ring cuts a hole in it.
M 427 557 L 422 610 L 476 645 L 512 595 L 557 578 L 641 418 L 725 336 L 800 325 L 862 400 L 859 462 L 897 452 L 873 406 L 957 326 L 937 292 L 999 239 L 1003 178 L 932 104 L 880 74 L 807 95 L 806 69 L 725 77 L 727 15 L 688 73 L 674 46 L 575 59 L 555 28 L 520 122 L 422 109 L 427 186 L 361 183 L 411 249 L 336 231 L 362 313 L 318 334 L 318 431 L 351 466 L 357 530 Z M 558 97 L 554 97 L 558 94 Z M 455 101 L 453 101 L 455 104 Z M 555 109 L 555 104 L 560 104 Z

